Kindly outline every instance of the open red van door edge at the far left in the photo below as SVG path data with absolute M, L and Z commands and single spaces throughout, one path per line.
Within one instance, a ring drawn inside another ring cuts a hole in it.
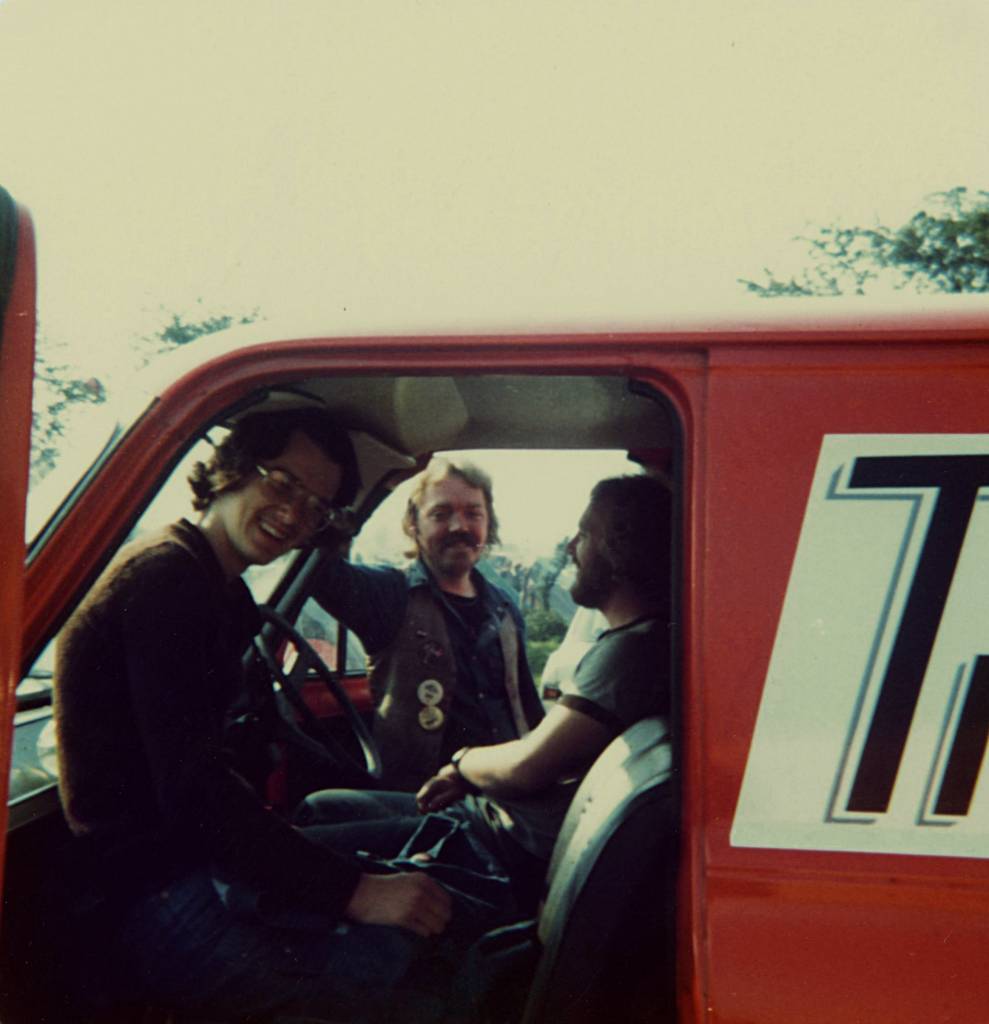
M 0 794 L 3 835 L 14 691 L 20 679 L 25 507 L 35 351 L 35 246 L 27 210 L 0 188 Z M 0 882 L 3 858 L 0 857 Z

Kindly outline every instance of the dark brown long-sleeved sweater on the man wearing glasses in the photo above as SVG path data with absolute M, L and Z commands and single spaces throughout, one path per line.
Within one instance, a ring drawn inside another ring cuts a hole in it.
M 260 618 L 182 520 L 125 548 L 63 628 L 60 792 L 78 859 L 109 896 L 208 866 L 339 915 L 359 868 L 263 806 L 227 763 L 224 713 Z

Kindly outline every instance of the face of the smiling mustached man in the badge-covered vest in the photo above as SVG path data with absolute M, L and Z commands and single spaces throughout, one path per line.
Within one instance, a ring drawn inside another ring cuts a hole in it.
M 470 571 L 484 553 L 487 527 L 487 505 L 480 487 L 449 475 L 423 492 L 413 536 L 442 590 L 473 594 Z

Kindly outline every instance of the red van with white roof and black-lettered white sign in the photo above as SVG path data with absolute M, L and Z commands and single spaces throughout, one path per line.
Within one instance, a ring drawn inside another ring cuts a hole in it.
M 669 928 L 618 928 L 595 953 L 636 954 L 646 994 L 628 1019 L 989 1020 L 984 301 L 909 315 L 767 303 L 767 317 L 744 323 L 616 317 L 595 331 L 238 329 L 162 360 L 136 418 L 77 467 L 26 547 L 35 296 L 24 210 L 2 211 L 0 236 L 6 1024 L 53 1019 L 44 985 L 25 980 L 43 964 L 33 907 L 61 836 L 50 757 L 31 760 L 48 715 L 45 650 L 205 433 L 285 395 L 325 402 L 358 438 L 360 518 L 439 451 L 668 460 L 680 495 L 679 818 L 668 838 L 679 860 Z M 301 552 L 263 582 L 293 624 L 318 557 Z M 345 631 L 320 639 L 363 714 Z M 651 849 L 618 865 L 630 891 Z M 663 906 L 646 909 L 665 920 Z M 666 972 L 675 994 L 650 1000 L 646 976 Z

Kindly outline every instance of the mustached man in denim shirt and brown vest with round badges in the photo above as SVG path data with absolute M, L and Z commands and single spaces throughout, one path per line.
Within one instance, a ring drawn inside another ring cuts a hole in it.
M 543 710 L 518 608 L 476 568 L 498 543 L 487 474 L 433 459 L 402 527 L 414 544 L 406 571 L 337 560 L 315 596 L 369 652 L 384 782 L 414 793 L 461 746 L 517 739 Z M 350 816 L 338 804 L 332 819 Z

